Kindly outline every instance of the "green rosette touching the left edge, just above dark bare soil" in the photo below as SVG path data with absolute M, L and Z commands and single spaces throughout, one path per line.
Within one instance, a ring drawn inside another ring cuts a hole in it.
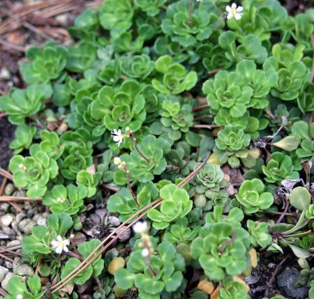
M 49 84 L 32 84 L 27 89 L 11 89 L 10 95 L 0 97 L 0 109 L 8 113 L 8 120 L 23 125 L 25 118 L 33 116 L 45 107 L 43 103 L 52 95 Z

